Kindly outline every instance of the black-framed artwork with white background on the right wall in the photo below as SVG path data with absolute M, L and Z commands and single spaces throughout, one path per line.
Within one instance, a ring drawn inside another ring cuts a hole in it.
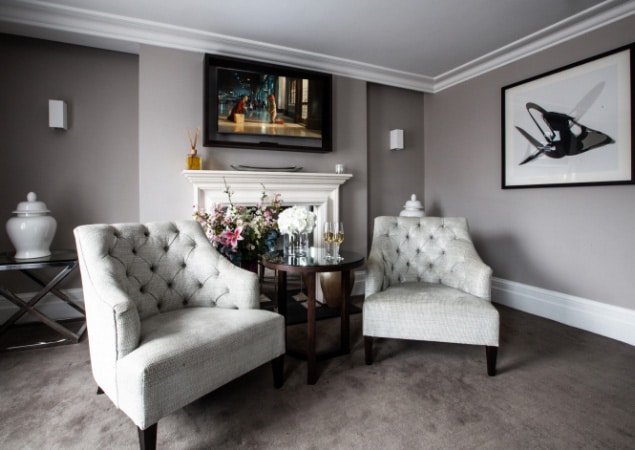
M 632 184 L 635 44 L 502 88 L 502 188 Z

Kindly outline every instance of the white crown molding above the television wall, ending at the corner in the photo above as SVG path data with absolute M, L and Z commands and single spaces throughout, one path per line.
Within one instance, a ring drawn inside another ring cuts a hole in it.
M 20 32 L 22 29 L 23 33 Z M 216 33 L 24 0 L 0 5 L 0 31 L 138 53 L 141 45 L 255 59 L 432 92 L 432 78 Z

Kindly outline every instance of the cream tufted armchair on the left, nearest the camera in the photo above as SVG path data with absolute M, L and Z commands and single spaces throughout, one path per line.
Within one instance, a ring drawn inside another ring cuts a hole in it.
M 132 419 L 141 448 L 157 422 L 273 362 L 282 386 L 282 316 L 259 308 L 257 275 L 231 264 L 195 221 L 75 229 L 98 392 Z

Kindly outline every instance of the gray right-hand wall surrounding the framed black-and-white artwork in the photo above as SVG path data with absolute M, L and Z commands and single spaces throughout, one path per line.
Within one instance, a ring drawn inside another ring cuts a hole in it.
M 635 40 L 635 18 L 425 102 L 425 204 L 469 220 L 494 276 L 635 308 L 635 186 L 502 190 L 501 88 Z

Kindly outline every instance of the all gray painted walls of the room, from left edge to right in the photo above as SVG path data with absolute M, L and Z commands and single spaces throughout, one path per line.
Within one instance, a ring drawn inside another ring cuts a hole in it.
M 495 276 L 635 309 L 635 186 L 500 189 L 501 87 L 634 38 L 631 18 L 435 95 L 335 77 L 332 154 L 203 148 L 204 168 L 343 163 L 354 174 L 343 219 L 359 230 L 349 248 L 365 253 L 372 217 L 416 193 L 429 215 L 468 217 Z M 80 223 L 191 217 L 181 170 L 185 128 L 202 124 L 202 54 L 143 47 L 137 58 L 10 36 L 0 50 L 0 217 L 41 193 L 60 224 L 56 247 Z M 48 128 L 49 98 L 69 103 L 67 132 Z M 406 150 L 390 152 L 397 127 Z

